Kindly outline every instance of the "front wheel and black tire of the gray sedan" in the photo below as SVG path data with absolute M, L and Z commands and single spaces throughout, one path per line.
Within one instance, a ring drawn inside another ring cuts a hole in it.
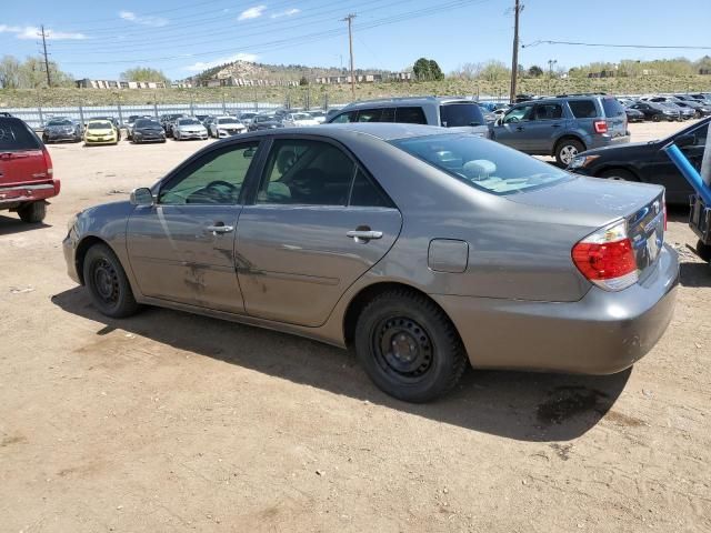
M 123 319 L 139 310 L 119 258 L 106 244 L 94 244 L 87 251 L 83 276 L 91 301 L 101 314 Z

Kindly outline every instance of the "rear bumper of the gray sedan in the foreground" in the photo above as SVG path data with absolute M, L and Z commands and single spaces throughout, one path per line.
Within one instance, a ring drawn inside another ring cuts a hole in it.
M 679 262 L 664 245 L 654 270 L 620 292 L 593 286 L 578 302 L 432 295 L 477 368 L 611 374 L 657 344 L 671 321 Z

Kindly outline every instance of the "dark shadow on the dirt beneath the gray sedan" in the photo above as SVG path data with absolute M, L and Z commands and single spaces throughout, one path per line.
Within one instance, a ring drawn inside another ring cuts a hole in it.
M 97 335 L 121 330 L 293 383 L 520 441 L 568 441 L 584 434 L 610 411 L 631 372 L 582 376 L 469 370 L 449 395 L 418 405 L 380 392 L 352 353 L 318 342 L 158 308 L 146 308 L 130 319 L 109 319 L 93 308 L 82 288 L 57 294 L 52 302 L 103 324 Z

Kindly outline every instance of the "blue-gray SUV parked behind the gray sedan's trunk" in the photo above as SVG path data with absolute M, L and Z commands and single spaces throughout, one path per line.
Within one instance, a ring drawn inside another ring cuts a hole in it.
M 495 122 L 492 139 L 565 167 L 579 152 L 630 142 L 630 133 L 614 97 L 575 95 L 515 104 Z

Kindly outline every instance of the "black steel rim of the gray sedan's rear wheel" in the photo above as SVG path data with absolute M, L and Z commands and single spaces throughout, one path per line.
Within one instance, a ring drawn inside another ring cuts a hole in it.
M 372 334 L 375 362 L 399 381 L 421 381 L 432 368 L 435 348 L 429 332 L 408 316 L 380 320 Z

